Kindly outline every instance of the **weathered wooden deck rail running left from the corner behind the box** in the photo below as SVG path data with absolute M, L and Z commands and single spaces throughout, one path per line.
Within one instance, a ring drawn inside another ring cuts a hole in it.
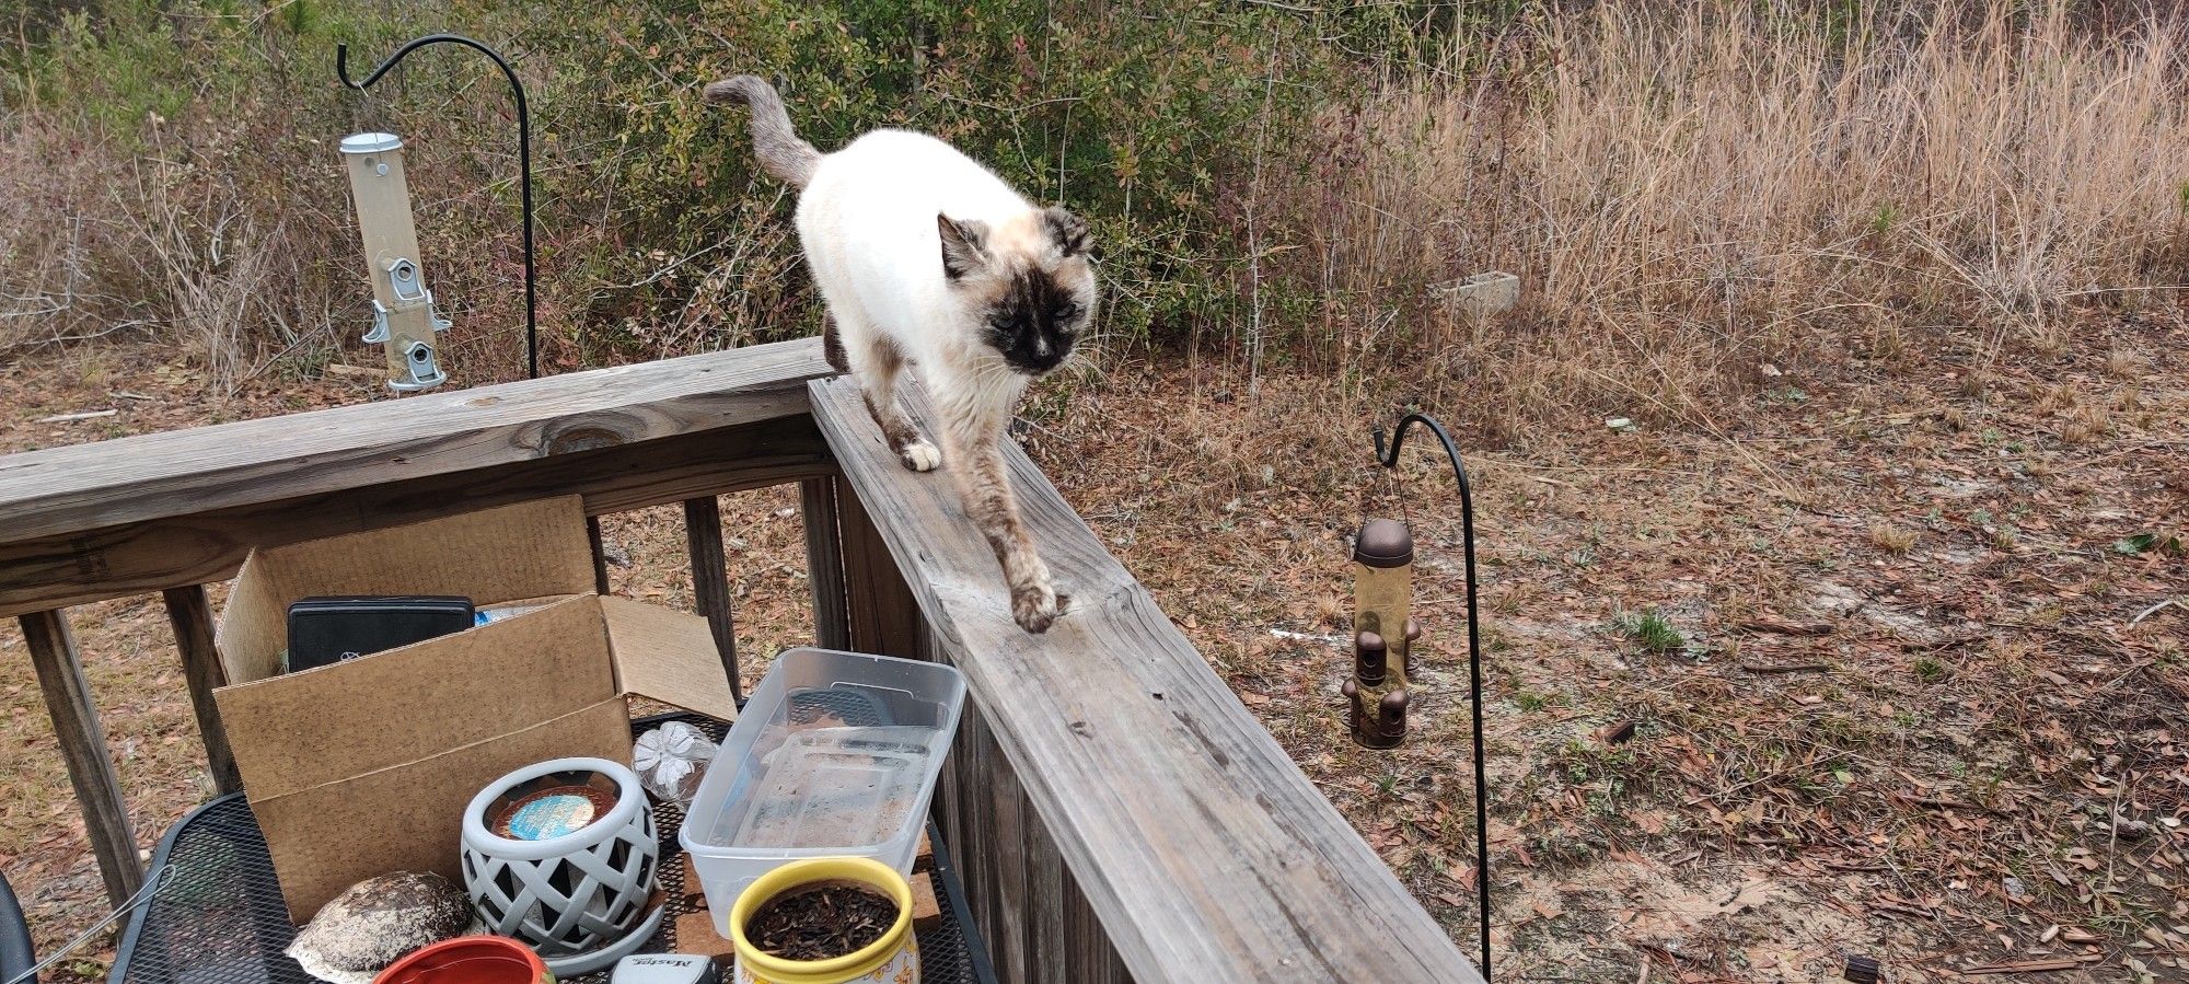
M 0 614 L 204 584 L 252 544 L 587 494 L 591 514 L 825 475 L 819 339 L 0 457 Z M 626 481 L 644 475 L 644 481 Z

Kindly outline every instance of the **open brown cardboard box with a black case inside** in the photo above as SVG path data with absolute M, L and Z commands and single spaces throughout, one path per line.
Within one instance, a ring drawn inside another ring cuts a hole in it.
M 541 608 L 282 676 L 289 604 L 311 595 Z M 576 496 L 252 551 L 215 643 L 215 700 L 298 923 L 392 870 L 462 883 L 471 798 L 545 759 L 628 765 L 626 698 L 738 713 L 705 619 L 593 595 Z

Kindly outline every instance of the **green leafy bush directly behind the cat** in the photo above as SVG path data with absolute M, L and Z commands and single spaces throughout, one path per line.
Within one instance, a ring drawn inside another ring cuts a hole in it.
M 753 72 L 823 151 L 873 127 L 922 129 L 1029 199 L 1086 214 L 1110 289 L 1103 330 L 1132 341 L 1235 313 L 1237 201 L 1256 157 L 1294 160 L 1337 66 L 1311 20 L 1263 7 L 703 0 L 606 20 L 602 70 L 582 85 L 619 114 L 600 177 L 624 188 L 633 241 L 672 256 L 753 241 L 760 256 L 733 249 L 742 269 L 722 286 L 781 291 L 795 243 L 757 230 L 784 223 L 790 197 L 755 175 L 742 112 L 694 98 Z M 626 311 L 661 311 L 661 297 Z M 819 317 L 812 304 L 746 315 L 790 335 Z

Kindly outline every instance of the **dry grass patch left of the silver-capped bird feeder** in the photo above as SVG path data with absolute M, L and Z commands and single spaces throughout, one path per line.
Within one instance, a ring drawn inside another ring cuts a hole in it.
M 142 149 L 66 116 L 0 131 L 0 356 L 171 339 L 219 398 L 285 356 L 328 359 L 363 282 L 341 276 L 346 223 L 263 133 L 147 122 Z M 276 129 L 278 120 L 256 120 Z M 309 144 L 309 142 L 306 142 Z

